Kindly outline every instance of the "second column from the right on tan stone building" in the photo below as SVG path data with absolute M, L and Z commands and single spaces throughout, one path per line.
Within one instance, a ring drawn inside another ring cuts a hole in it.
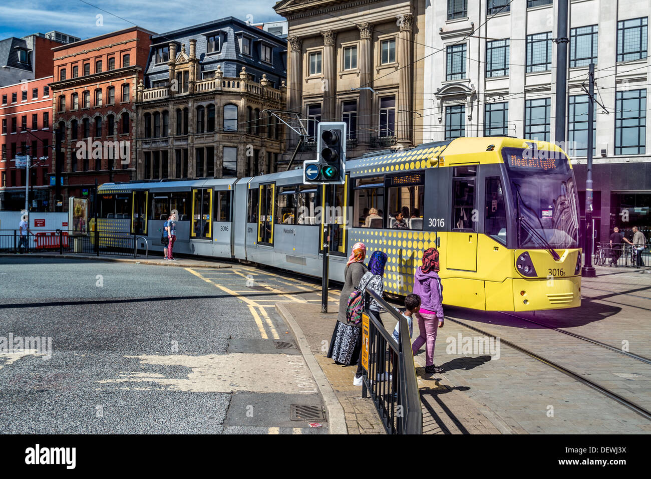
M 373 87 L 373 25 L 359 25 L 359 86 Z M 360 146 L 370 145 L 372 128 L 373 94 L 370 90 L 359 91 L 359 115 L 357 115 L 357 141 Z

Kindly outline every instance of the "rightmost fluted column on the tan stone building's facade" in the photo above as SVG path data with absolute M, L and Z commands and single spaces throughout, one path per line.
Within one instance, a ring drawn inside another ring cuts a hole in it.
M 411 146 L 413 125 L 413 15 L 408 13 L 400 18 L 398 33 L 398 63 L 400 64 L 400 83 L 398 87 L 398 124 L 396 137 L 398 145 Z

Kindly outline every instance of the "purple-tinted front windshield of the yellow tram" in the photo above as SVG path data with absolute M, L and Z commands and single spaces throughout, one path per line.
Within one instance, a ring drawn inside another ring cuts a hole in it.
M 568 158 L 518 148 L 505 148 L 502 155 L 516 208 L 518 247 L 578 248 L 579 200 Z

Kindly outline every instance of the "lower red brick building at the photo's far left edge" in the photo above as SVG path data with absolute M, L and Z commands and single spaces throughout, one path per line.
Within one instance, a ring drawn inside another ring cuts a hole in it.
M 32 159 L 29 206 L 49 211 L 49 173 L 52 166 L 52 77 L 0 87 L 0 210 L 25 207 L 25 168 L 16 168 L 16 154 Z

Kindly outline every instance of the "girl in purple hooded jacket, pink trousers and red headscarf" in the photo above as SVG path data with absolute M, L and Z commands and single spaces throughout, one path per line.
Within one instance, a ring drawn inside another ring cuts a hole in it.
M 434 366 L 434 345 L 436 345 L 437 328 L 443 327 L 443 285 L 437 272 L 439 271 L 439 252 L 429 248 L 422 254 L 422 266 L 416 270 L 413 282 L 415 295 L 421 297 L 421 309 L 414 313 L 418 320 L 421 334 L 411 345 L 415 356 L 421 346 L 425 346 L 425 372 L 443 373 L 445 369 Z M 438 324 L 437 324 L 438 323 Z

